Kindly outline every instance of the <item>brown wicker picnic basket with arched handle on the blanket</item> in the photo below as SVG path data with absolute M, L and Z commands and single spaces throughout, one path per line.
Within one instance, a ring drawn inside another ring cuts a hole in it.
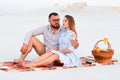
M 95 45 L 92 50 L 92 55 L 95 58 L 95 61 L 98 63 L 111 63 L 112 56 L 114 54 L 114 50 L 111 48 L 111 45 L 109 42 L 107 42 L 108 48 L 106 50 L 97 50 L 98 48 L 98 43 L 103 42 L 104 40 L 99 40 Z

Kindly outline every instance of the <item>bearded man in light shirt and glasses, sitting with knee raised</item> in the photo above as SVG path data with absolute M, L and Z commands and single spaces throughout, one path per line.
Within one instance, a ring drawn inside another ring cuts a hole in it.
M 25 36 L 23 46 L 21 47 L 21 57 L 19 61 L 24 61 L 32 48 L 38 53 L 38 55 L 44 54 L 46 51 L 51 49 L 58 49 L 58 38 L 60 34 L 64 31 L 63 27 L 60 26 L 60 18 L 56 12 L 49 14 L 49 25 L 39 27 L 35 30 L 28 32 Z M 39 41 L 35 36 L 43 35 L 44 43 Z M 78 47 L 78 42 L 71 41 L 74 47 Z

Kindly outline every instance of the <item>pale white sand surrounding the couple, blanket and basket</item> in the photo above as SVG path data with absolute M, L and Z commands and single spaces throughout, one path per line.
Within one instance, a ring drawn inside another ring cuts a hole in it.
M 113 59 L 120 61 L 119 7 L 98 7 L 87 4 L 61 7 L 56 4 L 49 8 L 0 14 L 0 62 L 18 59 L 19 49 L 26 33 L 48 24 L 48 14 L 52 11 L 60 14 L 61 24 L 65 14 L 70 14 L 75 18 L 80 43 L 78 56 L 92 55 L 91 50 L 95 43 L 107 36 L 115 51 Z M 38 38 L 42 39 L 42 36 Z M 37 57 L 38 55 L 33 50 L 26 60 L 34 60 Z M 0 80 L 119 80 L 119 68 L 120 64 L 30 72 L 0 71 Z

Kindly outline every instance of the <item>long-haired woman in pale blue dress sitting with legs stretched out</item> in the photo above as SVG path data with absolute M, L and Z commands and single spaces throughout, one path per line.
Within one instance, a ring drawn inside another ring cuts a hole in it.
M 80 66 L 80 59 L 76 56 L 75 48 L 71 45 L 71 40 L 77 40 L 74 18 L 65 15 L 63 20 L 65 31 L 59 37 L 59 49 L 50 50 L 33 62 L 26 64 L 29 67 L 46 66 L 58 60 L 65 67 Z

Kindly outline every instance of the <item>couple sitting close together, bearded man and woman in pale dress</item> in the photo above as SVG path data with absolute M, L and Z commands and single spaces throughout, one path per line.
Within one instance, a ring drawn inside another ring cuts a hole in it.
M 47 66 L 55 61 L 66 67 L 81 66 L 80 59 L 75 53 L 79 43 L 74 18 L 65 15 L 63 27 L 59 24 L 58 13 L 52 12 L 48 18 L 50 25 L 30 31 L 25 36 L 21 47 L 22 54 L 18 61 L 23 62 L 28 53 L 34 48 L 40 57 L 25 64 L 27 67 Z M 44 44 L 35 37 L 41 34 L 44 38 Z

